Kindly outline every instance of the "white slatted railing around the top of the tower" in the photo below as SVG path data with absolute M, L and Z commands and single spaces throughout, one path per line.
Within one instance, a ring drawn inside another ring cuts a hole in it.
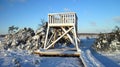
M 77 16 L 74 12 L 48 14 L 48 25 L 71 25 L 76 24 Z

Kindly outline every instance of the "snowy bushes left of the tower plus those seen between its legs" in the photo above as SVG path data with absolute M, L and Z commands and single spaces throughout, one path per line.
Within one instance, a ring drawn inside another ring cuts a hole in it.
M 40 26 L 35 32 L 32 28 L 24 28 L 19 29 L 17 32 L 12 34 L 7 34 L 4 38 L 4 41 L 1 42 L 0 49 L 22 49 L 22 50 L 37 50 L 41 49 L 44 46 L 45 35 L 47 31 L 47 23 L 44 23 Z M 55 30 L 50 29 L 48 34 L 48 38 L 52 36 L 55 32 L 57 32 L 56 38 L 58 38 L 61 33 L 61 29 L 56 28 Z M 69 46 L 70 40 L 66 36 L 59 40 L 56 43 L 57 46 L 64 44 L 65 46 Z M 56 46 L 53 46 L 56 47 Z

